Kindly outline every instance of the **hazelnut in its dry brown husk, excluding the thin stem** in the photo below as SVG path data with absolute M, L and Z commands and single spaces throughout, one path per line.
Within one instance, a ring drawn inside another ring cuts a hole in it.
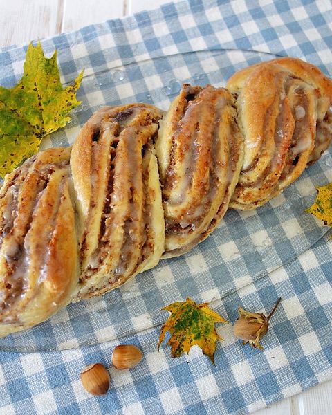
M 268 331 L 268 319 L 261 313 L 250 313 L 239 307 L 239 318 L 234 324 L 234 335 L 244 340 L 243 344 L 249 343 L 252 347 L 263 349 L 259 340 Z

